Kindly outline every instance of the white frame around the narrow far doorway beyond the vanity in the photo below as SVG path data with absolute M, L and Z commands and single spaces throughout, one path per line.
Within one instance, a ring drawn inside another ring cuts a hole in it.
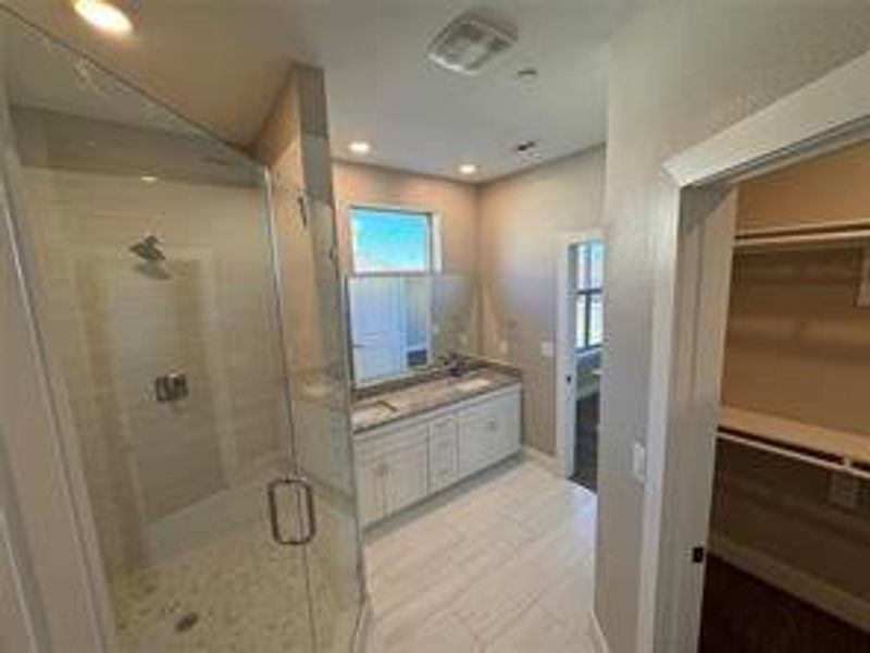
M 574 473 L 574 446 L 576 441 L 576 329 L 574 293 L 576 288 L 569 275 L 570 251 L 574 245 L 589 241 L 606 241 L 600 229 L 560 234 L 556 250 L 556 459 L 561 473 Z M 607 245 L 605 245 L 607 247 Z M 605 252 L 607 249 L 605 249 Z M 607 256 L 607 254 L 605 254 Z M 607 284 L 607 279 L 605 279 Z M 569 381 L 568 378 L 571 378 Z

